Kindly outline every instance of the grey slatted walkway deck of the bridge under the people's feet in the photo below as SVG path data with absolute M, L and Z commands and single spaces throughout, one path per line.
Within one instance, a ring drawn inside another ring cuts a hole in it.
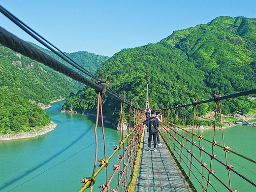
M 147 151 L 147 140 L 148 132 L 144 131 L 140 158 L 135 163 L 135 169 L 136 164 L 138 168 L 134 171 L 129 192 L 191 192 L 162 138 L 163 145 L 157 145 L 157 152 Z M 153 138 L 151 149 L 154 149 Z

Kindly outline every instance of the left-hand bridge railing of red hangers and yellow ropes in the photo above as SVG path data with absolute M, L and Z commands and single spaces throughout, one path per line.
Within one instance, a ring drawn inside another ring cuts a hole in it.
M 96 136 L 96 156 L 95 156 L 95 165 L 93 174 L 91 177 L 84 177 L 81 179 L 81 183 L 85 183 L 82 187 L 80 192 L 84 192 L 86 189 L 90 188 L 93 191 L 93 185 L 96 182 L 96 176 L 103 170 L 106 170 L 106 184 L 102 184 L 98 188 L 102 189 L 101 192 L 106 192 L 111 190 L 112 192 L 118 191 L 128 191 L 128 184 L 131 181 L 131 175 L 133 173 L 134 163 L 137 157 L 137 153 L 139 151 L 139 146 L 141 145 L 141 137 L 143 128 L 141 126 L 136 125 L 138 122 L 142 122 L 145 119 L 145 114 L 143 115 L 143 111 L 135 109 L 133 113 L 133 129 L 131 129 L 131 106 L 129 107 L 129 130 L 128 134 L 123 134 L 123 115 L 122 115 L 122 106 L 123 102 L 121 102 L 121 113 L 120 113 L 120 140 L 118 145 L 114 145 L 114 152 L 106 158 L 106 148 L 104 147 L 105 157 L 100 161 L 101 163 L 98 164 L 99 168 L 96 171 L 96 160 L 97 160 L 97 134 L 96 128 L 98 123 L 99 117 L 99 109 L 101 112 L 101 124 L 102 124 L 102 132 L 103 132 L 103 139 L 104 139 L 104 146 L 105 146 L 105 137 L 104 137 L 104 127 L 103 127 L 103 114 L 102 114 L 102 106 L 101 106 L 101 94 L 98 94 L 98 105 L 97 105 L 97 118 L 96 118 L 96 127 L 95 127 L 95 136 Z M 135 118 L 136 117 L 136 118 Z M 136 126 L 135 126 L 136 125 Z M 109 149 L 108 149 L 109 150 Z M 117 157 L 117 164 L 114 164 L 112 167 L 113 173 L 111 177 L 108 179 L 108 165 L 111 162 L 114 163 L 113 159 Z M 113 178 L 116 176 L 116 182 L 112 182 Z M 112 183 L 111 183 L 112 182 Z M 110 189 L 110 184 L 111 188 Z M 113 189 L 113 186 L 116 184 L 116 187 Z

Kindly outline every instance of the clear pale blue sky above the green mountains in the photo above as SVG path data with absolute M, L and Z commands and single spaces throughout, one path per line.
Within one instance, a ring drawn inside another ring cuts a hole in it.
M 256 17 L 256 0 L 0 0 L 0 5 L 64 52 L 109 57 L 219 16 Z M 40 45 L 1 13 L 0 26 Z

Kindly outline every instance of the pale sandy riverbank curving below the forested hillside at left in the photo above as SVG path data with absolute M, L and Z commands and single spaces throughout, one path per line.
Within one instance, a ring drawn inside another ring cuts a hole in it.
M 40 135 L 43 135 L 45 133 L 52 131 L 56 127 L 57 127 L 57 124 L 51 121 L 51 123 L 49 125 L 41 128 L 41 130 L 34 129 L 33 132 L 0 134 L 0 141 L 13 140 L 13 139 L 27 139 L 27 138 L 40 136 Z

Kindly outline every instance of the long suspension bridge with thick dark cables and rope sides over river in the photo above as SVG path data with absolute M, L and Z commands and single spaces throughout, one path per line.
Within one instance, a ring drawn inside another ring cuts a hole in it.
M 256 94 L 256 90 L 250 90 L 243 93 L 238 93 L 229 96 L 221 96 L 220 94 L 215 94 L 212 99 L 205 101 L 192 100 L 192 103 L 185 104 L 181 106 L 174 106 L 164 109 L 155 109 L 163 114 L 163 121 L 160 123 L 159 133 L 160 139 L 164 145 L 158 146 L 157 152 L 146 151 L 146 139 L 148 133 L 145 131 L 145 127 L 139 125 L 145 120 L 145 108 L 139 107 L 132 103 L 132 101 L 127 101 L 125 96 L 120 96 L 116 94 L 110 88 L 110 77 L 106 81 L 101 79 L 101 76 L 96 78 L 93 74 L 89 73 L 86 69 L 76 64 L 70 58 L 68 58 L 63 52 L 58 48 L 54 47 L 50 42 L 41 37 L 38 33 L 30 29 L 26 24 L 21 22 L 18 18 L 13 16 L 7 10 L 0 6 L 0 11 L 6 17 L 11 19 L 24 31 L 31 34 L 40 43 L 45 45 L 47 48 L 52 50 L 58 56 L 75 66 L 78 70 L 82 71 L 84 74 L 88 75 L 95 81 L 92 81 L 80 73 L 70 69 L 64 64 L 56 61 L 40 50 L 34 48 L 27 42 L 19 39 L 10 32 L 5 31 L 0 28 L 0 43 L 15 52 L 19 52 L 24 56 L 30 57 L 42 64 L 45 64 L 54 70 L 57 70 L 74 80 L 84 83 L 96 90 L 97 93 L 97 118 L 95 126 L 95 136 L 96 129 L 98 125 L 98 120 L 101 117 L 102 122 L 102 134 L 104 138 L 104 128 L 103 128 L 103 115 L 102 114 L 102 104 L 101 96 L 103 94 L 110 96 L 112 98 L 120 101 L 120 139 L 118 144 L 114 146 L 114 152 L 106 157 L 106 147 L 104 139 L 104 152 L 105 156 L 98 160 L 97 157 L 97 136 L 96 136 L 96 156 L 95 163 L 93 167 L 93 173 L 91 176 L 83 177 L 80 182 L 84 183 L 81 187 L 81 192 L 86 189 L 93 191 L 96 187 L 101 189 L 102 192 L 112 191 L 124 191 L 124 192 L 188 192 L 188 191 L 218 191 L 216 188 L 216 183 L 220 184 L 225 191 L 237 192 L 236 189 L 232 187 L 233 176 L 238 177 L 241 184 L 247 183 L 256 187 L 255 178 L 247 178 L 246 175 L 238 172 L 234 166 L 229 164 L 228 156 L 233 154 L 241 158 L 245 163 L 256 164 L 256 160 L 252 160 L 242 154 L 239 154 L 231 150 L 231 147 L 226 146 L 224 142 L 224 132 L 222 125 L 222 113 L 220 101 L 223 99 L 247 96 L 251 94 Z M 52 48 L 54 47 L 54 48 Z M 55 51 L 57 49 L 60 53 Z M 148 84 L 147 84 L 148 85 Z M 147 86 L 148 88 L 148 86 Z M 148 89 L 146 98 L 146 107 L 150 108 Z M 197 106 L 203 103 L 212 102 L 215 104 L 215 124 L 213 129 L 213 139 L 208 140 L 200 135 L 199 132 L 199 121 L 198 121 L 198 108 Z M 129 107 L 129 130 L 126 135 L 123 133 L 123 114 L 122 107 L 126 104 Z M 193 107 L 193 125 L 192 129 L 187 128 L 186 122 L 186 107 Z M 178 121 L 178 108 L 183 109 L 183 125 L 179 125 Z M 222 140 L 216 140 L 216 123 L 217 123 L 217 112 L 220 116 L 220 125 L 222 130 Z M 175 117 L 174 117 L 175 114 Z M 131 119 L 131 117 L 134 117 Z M 196 143 L 196 142 L 197 143 Z M 210 145 L 210 150 L 206 149 L 205 143 Z M 223 158 L 218 158 L 215 154 L 216 149 L 221 149 L 224 155 Z M 117 159 L 117 164 L 112 164 L 113 159 Z M 97 160 L 100 162 L 96 170 Z M 109 171 L 109 167 L 112 164 L 113 170 Z M 225 170 L 225 175 L 220 174 L 216 169 L 216 164 L 223 167 Z M 97 175 L 103 174 L 105 170 L 106 183 L 101 186 L 94 186 Z M 111 172 L 111 176 L 109 174 Z M 110 176 L 110 177 L 109 177 Z M 113 178 L 117 177 L 117 183 L 111 183 Z M 199 185 L 199 188 L 194 187 L 193 181 Z M 213 182 L 214 180 L 214 182 Z M 79 181 L 78 181 L 79 182 Z

